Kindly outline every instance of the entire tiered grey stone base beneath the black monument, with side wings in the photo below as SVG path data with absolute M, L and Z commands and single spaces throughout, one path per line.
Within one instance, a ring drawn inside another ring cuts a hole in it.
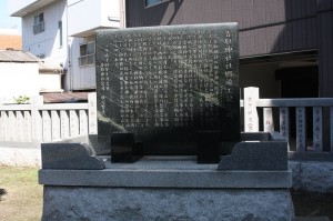
M 286 142 L 244 134 L 218 164 L 195 155 L 111 163 L 87 144 L 42 144 L 42 220 L 294 220 Z

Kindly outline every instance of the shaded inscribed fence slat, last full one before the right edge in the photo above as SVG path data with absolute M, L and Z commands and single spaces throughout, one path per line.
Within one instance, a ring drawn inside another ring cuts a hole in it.
M 323 151 L 323 109 L 313 107 L 313 151 Z

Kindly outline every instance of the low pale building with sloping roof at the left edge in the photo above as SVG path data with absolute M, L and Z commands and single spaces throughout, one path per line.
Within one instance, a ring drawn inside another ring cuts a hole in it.
M 61 91 L 61 71 L 60 66 L 51 66 L 29 52 L 0 50 L 1 102 Z

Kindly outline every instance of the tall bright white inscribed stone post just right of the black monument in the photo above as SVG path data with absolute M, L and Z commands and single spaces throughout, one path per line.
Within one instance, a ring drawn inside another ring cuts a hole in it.
M 244 131 L 259 132 L 259 119 L 256 101 L 259 100 L 259 88 L 244 88 Z

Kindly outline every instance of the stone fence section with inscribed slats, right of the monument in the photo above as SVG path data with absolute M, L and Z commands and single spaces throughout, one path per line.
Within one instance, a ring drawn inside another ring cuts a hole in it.
M 258 88 L 245 88 L 241 106 L 244 107 L 245 132 L 258 132 L 261 118 L 262 130 L 280 131 L 287 140 L 290 150 L 291 143 L 294 143 L 293 149 L 300 152 L 323 152 L 324 149 L 333 151 L 333 98 L 260 99 Z M 291 121 L 292 108 L 295 110 L 294 122 Z M 260 109 L 262 109 L 262 117 L 259 115 Z M 306 111 L 312 112 L 312 118 L 310 118 L 312 122 L 306 121 Z M 278 117 L 274 112 L 278 112 Z M 324 114 L 324 112 L 330 114 Z M 279 122 L 275 123 L 274 119 L 279 119 Z M 295 131 L 291 131 L 291 124 L 294 124 Z M 309 127 L 312 127 L 312 134 L 307 137 Z M 294 139 L 291 138 L 292 133 Z M 329 143 L 323 141 L 324 133 L 330 135 Z M 324 148 L 324 145 L 329 147 Z

